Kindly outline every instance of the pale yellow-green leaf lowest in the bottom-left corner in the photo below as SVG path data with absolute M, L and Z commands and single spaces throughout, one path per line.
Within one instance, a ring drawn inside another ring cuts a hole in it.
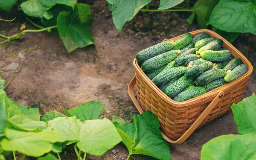
M 0 142 L 3 150 L 18 151 L 32 157 L 40 157 L 51 151 L 53 143 L 60 138 L 54 131 L 27 132 L 11 128 L 6 128 L 5 135 L 6 139 Z

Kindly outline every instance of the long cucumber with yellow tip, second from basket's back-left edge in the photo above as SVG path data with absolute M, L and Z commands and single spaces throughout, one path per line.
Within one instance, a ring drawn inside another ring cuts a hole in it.
M 143 70 L 144 73 L 150 73 L 156 70 L 157 68 L 160 68 L 164 64 L 167 64 L 168 62 L 172 61 L 175 57 L 177 57 L 178 54 L 179 52 L 177 50 L 164 52 L 143 62 L 143 64 L 141 65 L 141 69 Z

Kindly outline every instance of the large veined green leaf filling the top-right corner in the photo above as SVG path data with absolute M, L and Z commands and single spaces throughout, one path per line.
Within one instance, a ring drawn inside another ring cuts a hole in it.
M 250 32 L 256 35 L 255 0 L 220 0 L 209 24 L 226 32 Z

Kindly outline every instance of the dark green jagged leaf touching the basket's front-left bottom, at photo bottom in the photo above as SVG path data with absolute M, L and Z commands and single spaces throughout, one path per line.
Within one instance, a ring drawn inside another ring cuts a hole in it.
M 170 160 L 170 147 L 160 132 L 157 117 L 150 111 L 133 117 L 131 124 L 114 122 L 129 154 L 144 154 L 160 160 Z

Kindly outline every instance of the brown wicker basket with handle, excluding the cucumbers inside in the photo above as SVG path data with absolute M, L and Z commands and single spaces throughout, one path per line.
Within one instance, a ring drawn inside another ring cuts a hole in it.
M 128 93 L 140 113 L 150 110 L 157 116 L 163 137 L 170 143 L 183 143 L 195 129 L 212 122 L 213 119 L 231 112 L 231 105 L 241 100 L 247 81 L 253 72 L 253 66 L 232 44 L 217 33 L 200 29 L 190 32 L 193 36 L 207 32 L 210 37 L 220 38 L 224 41 L 223 47 L 230 50 L 236 58 L 241 58 L 247 65 L 248 71 L 239 79 L 218 87 L 201 96 L 184 102 L 176 102 L 164 94 L 143 73 L 134 59 L 135 76 L 128 86 Z M 183 35 L 172 38 L 177 40 Z M 164 39 L 163 41 L 171 41 Z M 137 99 L 134 95 L 136 84 Z

